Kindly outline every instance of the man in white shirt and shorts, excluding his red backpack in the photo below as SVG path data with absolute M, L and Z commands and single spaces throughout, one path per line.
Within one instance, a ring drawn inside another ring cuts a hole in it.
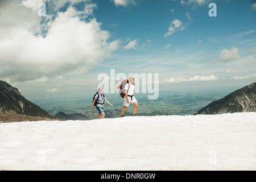
M 135 98 L 135 92 L 134 92 L 134 76 L 131 75 L 129 77 L 129 82 L 127 81 L 127 84 L 125 85 L 125 97 L 123 97 L 123 109 L 120 117 L 123 117 L 123 114 L 125 113 L 125 110 L 127 107 L 129 107 L 130 103 L 134 105 L 134 110 L 133 110 L 133 116 L 137 116 L 137 110 L 139 107 L 139 104 Z

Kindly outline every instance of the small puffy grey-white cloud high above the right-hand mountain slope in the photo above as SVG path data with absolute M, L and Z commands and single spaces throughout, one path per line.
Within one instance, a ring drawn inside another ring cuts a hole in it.
M 237 60 L 241 58 L 241 55 L 238 53 L 239 49 L 235 46 L 232 46 L 231 49 L 223 49 L 218 57 L 218 60 L 222 62 L 229 62 L 231 60 Z

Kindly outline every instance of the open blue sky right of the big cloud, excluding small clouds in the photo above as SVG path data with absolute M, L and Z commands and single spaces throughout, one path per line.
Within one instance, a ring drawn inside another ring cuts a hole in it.
M 208 15 L 210 2 L 217 5 L 217 17 Z M 114 39 L 122 40 L 123 46 L 106 60 L 108 65 L 104 64 L 101 71 L 107 67 L 127 72 L 122 65 L 115 65 L 119 62 L 132 63 L 136 73 L 160 73 L 162 81 L 216 77 L 192 83 L 165 82 L 164 87 L 170 90 L 207 89 L 212 85 L 223 89 L 224 85 L 239 87 L 254 82 L 255 67 L 251 64 L 255 65 L 256 12 L 252 5 L 253 1 L 205 1 L 202 5 L 196 1 L 187 5 L 181 5 L 180 1 L 142 1 L 128 6 L 115 6 L 108 1 L 98 3 L 94 16 L 102 21 L 105 30 L 112 32 Z M 182 22 L 184 30 L 164 36 L 175 19 Z M 134 40 L 137 42 L 134 48 L 124 48 Z M 232 47 L 238 48 L 240 58 L 220 60 L 224 49 L 232 55 Z M 249 60 L 246 56 L 253 58 Z M 100 67 L 94 71 L 97 69 Z

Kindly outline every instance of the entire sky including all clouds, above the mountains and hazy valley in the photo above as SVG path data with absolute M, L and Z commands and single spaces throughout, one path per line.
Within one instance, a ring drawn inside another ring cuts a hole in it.
M 255 1 L 1 3 L 0 79 L 28 98 L 83 97 L 110 69 L 158 73 L 160 92 L 238 89 L 256 80 Z

